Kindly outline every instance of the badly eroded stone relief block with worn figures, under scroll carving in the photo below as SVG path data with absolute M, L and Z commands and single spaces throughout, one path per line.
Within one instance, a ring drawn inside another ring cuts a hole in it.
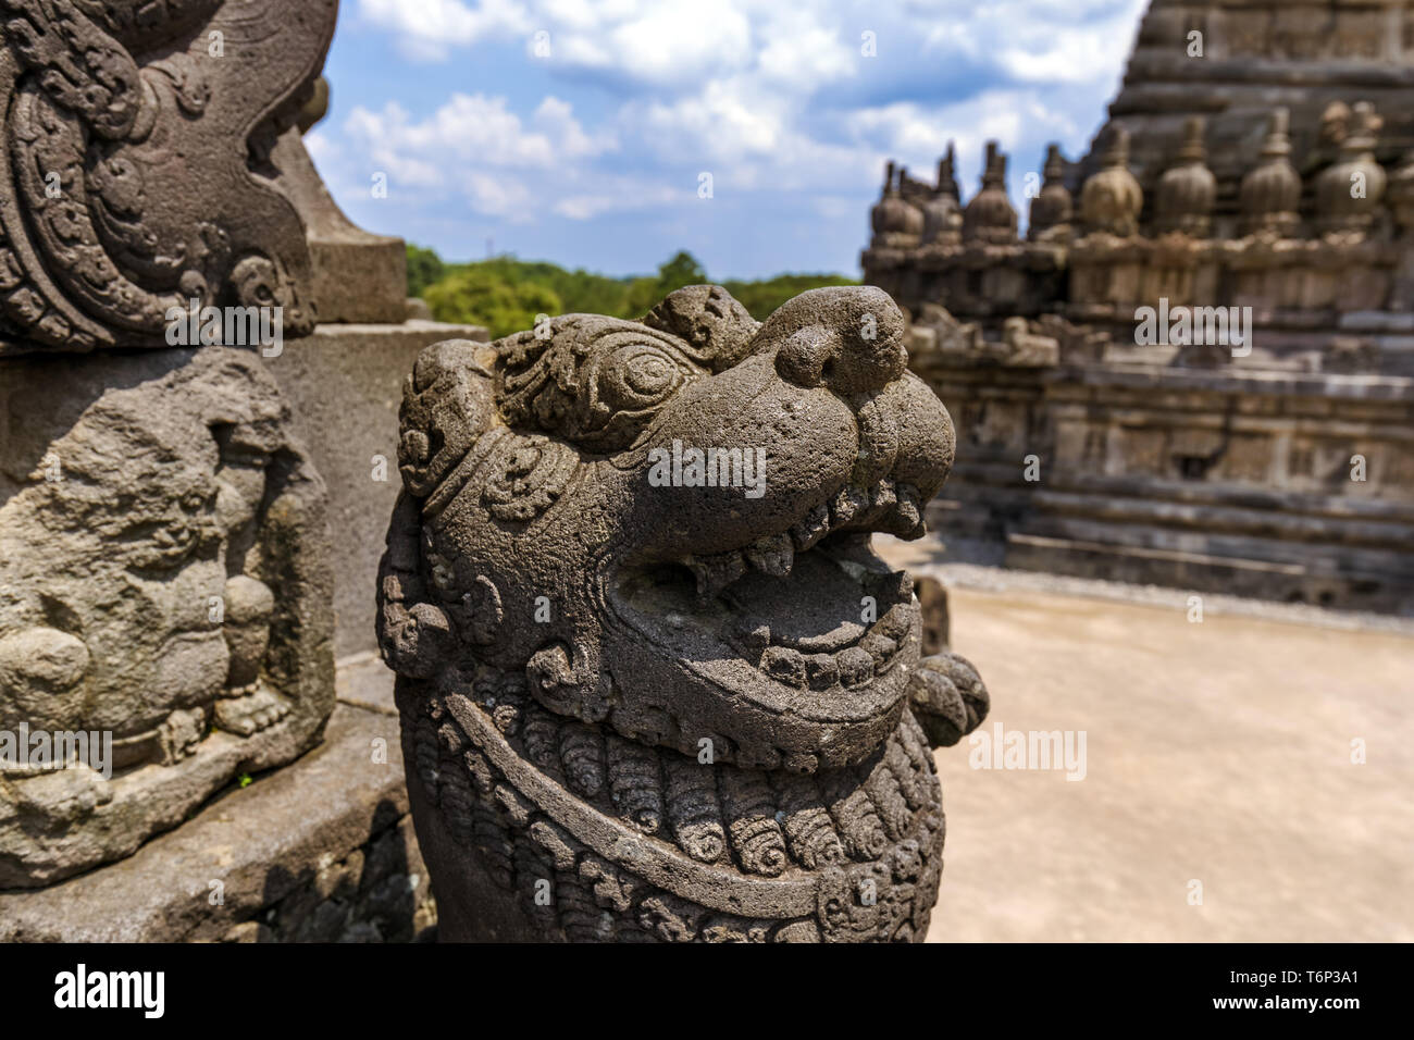
M 324 483 L 266 361 L 0 362 L 0 732 L 112 737 L 0 775 L 0 887 L 130 855 L 334 703 Z

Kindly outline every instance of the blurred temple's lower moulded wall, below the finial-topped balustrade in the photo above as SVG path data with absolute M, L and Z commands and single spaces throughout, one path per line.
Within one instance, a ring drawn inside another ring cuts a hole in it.
M 957 416 L 932 526 L 1029 570 L 1414 610 L 1414 403 L 1359 376 L 925 372 Z M 1367 481 L 1350 460 L 1367 458 Z M 1025 461 L 1039 460 L 1036 481 Z

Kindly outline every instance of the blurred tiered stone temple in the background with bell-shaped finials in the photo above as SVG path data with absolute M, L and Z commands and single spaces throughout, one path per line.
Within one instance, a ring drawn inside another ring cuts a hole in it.
M 967 449 L 949 543 L 1414 611 L 1414 4 L 1154 0 L 1024 238 L 1005 173 L 889 164 L 863 256 Z

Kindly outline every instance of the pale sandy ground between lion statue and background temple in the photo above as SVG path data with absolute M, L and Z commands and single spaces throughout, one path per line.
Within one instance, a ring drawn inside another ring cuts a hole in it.
M 937 753 L 930 941 L 1414 941 L 1414 637 L 998 584 L 950 597 L 983 730 L 1083 732 L 1085 778 Z

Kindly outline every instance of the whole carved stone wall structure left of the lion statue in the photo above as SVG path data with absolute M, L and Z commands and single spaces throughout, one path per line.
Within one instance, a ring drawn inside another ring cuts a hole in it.
M 403 372 L 485 331 L 305 153 L 337 0 L 130 7 L 0 31 L 0 935 L 411 938 L 396 722 L 337 691 Z

